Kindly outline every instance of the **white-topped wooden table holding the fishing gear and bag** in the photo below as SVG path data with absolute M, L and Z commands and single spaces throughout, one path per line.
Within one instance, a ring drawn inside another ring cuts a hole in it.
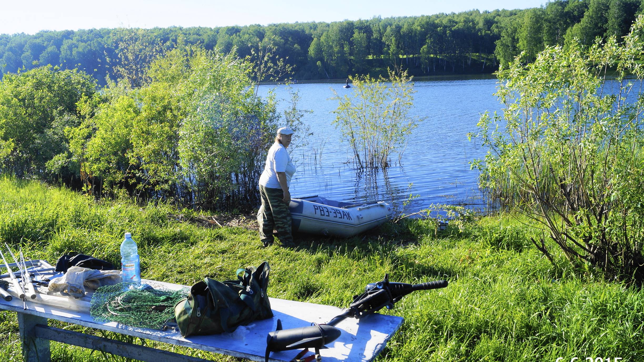
M 144 281 L 145 282 L 145 281 Z M 161 283 L 175 289 L 182 285 Z M 281 319 L 285 329 L 306 327 L 312 322 L 326 323 L 342 310 L 328 305 L 302 303 L 298 301 L 270 298 L 270 306 L 274 317 L 255 321 L 251 325 L 238 327 L 232 333 L 213 334 L 209 336 L 191 336 L 182 338 L 178 330 L 142 329 L 121 325 L 115 322 L 102 323 L 95 321 L 89 311 L 78 312 L 60 307 L 50 307 L 44 304 L 26 302 L 14 298 L 5 301 L 0 298 L 0 310 L 12 310 L 18 313 L 20 338 L 23 347 L 23 358 L 26 362 L 50 361 L 50 341 L 59 341 L 70 345 L 102 350 L 118 356 L 130 357 L 140 361 L 204 361 L 196 357 L 175 354 L 156 348 L 149 348 L 131 343 L 124 343 L 89 334 L 70 330 L 48 327 L 48 319 L 56 319 L 68 323 L 108 330 L 128 336 L 135 336 L 153 341 L 170 343 L 227 354 L 235 357 L 264 361 L 266 338 L 270 331 L 276 329 L 277 319 Z M 345 319 L 336 327 L 342 330 L 336 341 L 327 345 L 328 349 L 321 350 L 324 362 L 359 362 L 372 361 L 383 350 L 387 341 L 403 323 L 403 318 L 374 314 L 363 319 Z M 299 350 L 290 350 L 270 354 L 270 361 L 290 361 Z M 307 354 L 310 355 L 312 352 Z

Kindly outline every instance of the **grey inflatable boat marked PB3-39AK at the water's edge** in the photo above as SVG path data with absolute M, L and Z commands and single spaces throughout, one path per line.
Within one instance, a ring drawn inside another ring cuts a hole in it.
M 373 229 L 393 217 L 393 209 L 386 202 L 351 204 L 317 195 L 292 198 L 289 209 L 293 231 L 344 238 Z

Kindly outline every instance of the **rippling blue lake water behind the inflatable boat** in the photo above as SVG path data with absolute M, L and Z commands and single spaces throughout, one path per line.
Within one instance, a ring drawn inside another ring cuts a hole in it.
M 293 197 L 320 195 L 349 202 L 385 200 L 401 210 L 404 200 L 418 195 L 404 207 L 404 213 L 426 209 L 431 204 L 466 204 L 484 207 L 478 191 L 478 171 L 469 162 L 482 157 L 480 142 L 469 142 L 467 133 L 477 131 L 480 114 L 501 108 L 496 97 L 496 79 L 455 79 L 415 81 L 414 108 L 410 115 L 426 117 L 410 135 L 400 162 L 393 155 L 393 166 L 386 170 L 359 171 L 352 162 L 353 151 L 340 129 L 331 122 L 339 95 L 354 88 L 344 83 L 293 84 L 301 97 L 298 108 L 312 110 L 303 118 L 313 135 L 308 146 L 294 148 L 291 154 L 298 171 L 290 189 Z M 289 99 L 285 86 L 261 86 L 266 95 L 275 88 L 278 99 Z M 286 106 L 282 100 L 281 107 Z M 293 138 L 292 146 L 302 142 Z M 411 186 L 410 186 L 411 184 Z

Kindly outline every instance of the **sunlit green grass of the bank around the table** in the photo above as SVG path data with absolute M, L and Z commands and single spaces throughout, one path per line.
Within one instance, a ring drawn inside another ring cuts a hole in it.
M 378 361 L 637 361 L 644 354 L 644 292 L 575 276 L 564 260 L 553 267 L 527 241 L 536 230 L 507 215 L 488 216 L 462 233 L 450 228 L 435 235 L 430 223 L 409 220 L 349 240 L 305 236 L 296 249 L 265 249 L 256 231 L 204 227 L 194 222 L 198 216 L 166 205 L 95 202 L 66 189 L 0 179 L 1 241 L 22 245 L 32 259 L 53 263 L 75 251 L 118 262 L 118 245 L 130 231 L 144 278 L 191 285 L 204 276 L 228 279 L 238 267 L 268 260 L 270 296 L 338 307 L 386 272 L 392 281 L 407 283 L 448 279 L 446 289 L 416 292 L 383 311 L 405 321 Z M 52 343 L 52 357 L 106 360 L 99 352 L 59 343 Z M 0 361 L 19 360 L 15 313 L 0 312 Z

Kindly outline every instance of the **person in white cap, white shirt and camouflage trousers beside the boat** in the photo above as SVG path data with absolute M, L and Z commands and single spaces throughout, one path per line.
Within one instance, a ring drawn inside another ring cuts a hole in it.
M 265 247 L 274 242 L 273 229 L 278 231 L 282 245 L 292 246 L 290 204 L 290 179 L 295 166 L 290 159 L 289 148 L 293 130 L 288 127 L 278 129 L 275 143 L 270 146 L 266 165 L 260 176 L 261 207 L 257 213 L 260 224 L 260 238 Z

